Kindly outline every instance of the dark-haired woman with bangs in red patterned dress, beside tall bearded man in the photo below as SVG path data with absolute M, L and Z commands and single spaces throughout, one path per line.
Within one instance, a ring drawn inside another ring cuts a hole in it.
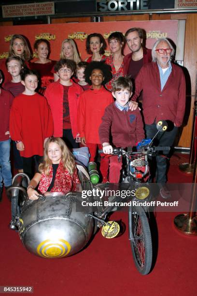
M 112 55 L 106 58 L 105 63 L 111 66 L 113 78 L 105 85 L 105 87 L 106 89 L 112 91 L 112 82 L 118 77 L 124 76 L 123 52 L 125 47 L 125 37 L 123 33 L 113 32 L 108 37 L 108 44 L 110 45 Z

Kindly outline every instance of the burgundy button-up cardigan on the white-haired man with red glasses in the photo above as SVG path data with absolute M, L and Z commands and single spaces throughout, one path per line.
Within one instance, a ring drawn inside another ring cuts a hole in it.
M 143 116 L 146 124 L 170 120 L 181 126 L 185 111 L 185 78 L 181 67 L 171 64 L 172 71 L 161 90 L 159 68 L 156 62 L 143 65 L 135 79 L 136 101 L 143 89 Z

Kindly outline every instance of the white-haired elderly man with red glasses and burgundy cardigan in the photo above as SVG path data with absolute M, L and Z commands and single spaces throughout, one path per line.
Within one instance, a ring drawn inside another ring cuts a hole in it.
M 153 61 L 143 65 L 135 79 L 136 101 L 143 90 L 143 116 L 147 138 L 153 138 L 157 132 L 156 122 L 167 120 L 167 132 L 159 132 L 154 139 L 157 146 L 172 146 L 178 127 L 182 125 L 185 112 L 185 78 L 181 67 L 170 62 L 174 49 L 168 39 L 155 42 L 152 49 Z M 155 181 L 159 183 L 163 198 L 170 197 L 167 181 L 167 152 L 156 155 Z M 155 167 L 153 168 L 155 171 Z M 153 177 L 153 174 L 152 174 Z

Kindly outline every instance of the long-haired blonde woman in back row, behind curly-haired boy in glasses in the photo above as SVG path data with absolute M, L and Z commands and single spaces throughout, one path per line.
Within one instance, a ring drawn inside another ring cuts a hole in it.
M 73 39 L 68 38 L 62 41 L 60 59 L 72 59 L 73 61 L 75 61 L 76 64 L 81 61 L 77 45 L 75 44 Z M 54 81 L 57 81 L 59 79 L 59 76 L 56 74 L 54 69 L 52 70 L 52 72 L 54 73 Z

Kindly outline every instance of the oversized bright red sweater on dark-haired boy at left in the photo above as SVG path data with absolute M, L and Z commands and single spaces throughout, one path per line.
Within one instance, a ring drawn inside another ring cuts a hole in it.
M 53 135 L 54 126 L 51 110 L 46 98 L 20 94 L 14 98 L 10 113 L 10 135 L 14 141 L 22 141 L 23 157 L 43 155 L 43 141 Z

